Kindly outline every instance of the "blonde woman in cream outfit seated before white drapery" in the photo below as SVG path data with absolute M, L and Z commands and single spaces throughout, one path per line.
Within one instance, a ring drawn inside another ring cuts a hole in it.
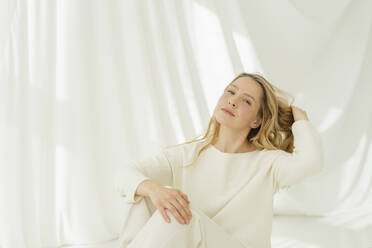
M 241 73 L 203 137 L 127 164 L 120 247 L 270 247 L 274 194 L 323 167 L 320 135 L 288 98 Z

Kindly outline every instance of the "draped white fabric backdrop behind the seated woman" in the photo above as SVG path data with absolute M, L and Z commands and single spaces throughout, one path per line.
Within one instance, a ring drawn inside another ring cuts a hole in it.
M 371 9 L 2 0 L 0 247 L 116 239 L 116 166 L 202 134 L 242 71 L 296 96 L 324 142 L 325 170 L 279 193 L 275 214 L 349 211 L 355 231 L 370 227 L 370 212 L 358 213 L 372 206 Z

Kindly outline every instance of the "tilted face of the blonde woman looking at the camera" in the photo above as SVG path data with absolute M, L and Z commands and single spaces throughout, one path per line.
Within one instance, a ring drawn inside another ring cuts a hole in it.
M 238 78 L 225 88 L 219 98 L 214 111 L 216 120 L 221 125 L 234 129 L 258 127 L 260 119 L 257 113 L 262 95 L 263 90 L 256 81 L 250 77 Z M 223 109 L 231 111 L 233 115 L 226 113 Z

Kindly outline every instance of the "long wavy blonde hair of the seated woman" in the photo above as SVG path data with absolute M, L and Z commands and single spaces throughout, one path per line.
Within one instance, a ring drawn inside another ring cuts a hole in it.
M 226 88 L 241 77 L 250 77 L 257 82 L 263 90 L 263 96 L 260 101 L 261 104 L 257 113 L 262 119 L 262 122 L 259 127 L 251 129 L 247 136 L 248 141 L 251 142 L 257 149 L 280 149 L 292 153 L 294 147 L 291 126 L 294 122 L 294 119 L 290 105 L 292 105 L 294 97 L 288 92 L 275 87 L 263 76 L 257 73 L 240 73 L 226 86 Z M 291 101 L 289 102 L 289 100 Z M 203 137 L 200 138 L 200 136 L 202 136 L 200 135 L 190 141 L 168 146 L 167 148 L 197 141 L 206 141 L 206 144 L 199 150 L 194 160 L 184 167 L 191 166 L 195 164 L 196 160 L 200 156 L 200 153 L 207 149 L 208 146 L 210 146 L 218 137 L 219 128 L 220 124 L 213 115 Z

